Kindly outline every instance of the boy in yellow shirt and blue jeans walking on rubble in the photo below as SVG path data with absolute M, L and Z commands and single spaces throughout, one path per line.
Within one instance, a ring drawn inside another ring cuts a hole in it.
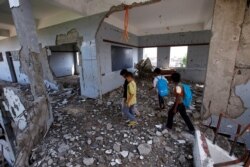
M 123 109 L 123 113 L 130 120 L 128 126 L 135 126 L 137 125 L 137 121 L 135 118 L 136 83 L 134 81 L 134 77 L 131 72 L 126 73 L 125 78 L 128 81 L 128 86 L 127 86 L 127 99 Z

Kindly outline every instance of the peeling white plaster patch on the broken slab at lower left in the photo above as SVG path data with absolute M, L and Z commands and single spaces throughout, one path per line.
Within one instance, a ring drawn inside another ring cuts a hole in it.
M 27 120 L 24 116 L 25 108 L 20 98 L 11 88 L 4 88 L 4 96 L 8 102 L 8 104 L 4 105 L 7 106 L 7 111 L 10 112 L 16 127 L 20 130 L 24 130 L 27 127 Z

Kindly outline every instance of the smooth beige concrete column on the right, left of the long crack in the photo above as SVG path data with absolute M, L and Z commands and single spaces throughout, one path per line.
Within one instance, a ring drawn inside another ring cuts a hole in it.
M 246 0 L 216 0 L 212 25 L 203 112 L 226 112 L 239 46 Z

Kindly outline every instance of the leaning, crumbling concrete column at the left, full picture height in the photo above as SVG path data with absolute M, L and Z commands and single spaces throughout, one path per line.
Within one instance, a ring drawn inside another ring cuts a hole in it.
M 24 73 L 29 77 L 34 100 L 28 113 L 28 126 L 16 134 L 16 162 L 14 166 L 29 166 L 28 161 L 34 145 L 48 131 L 53 117 L 43 82 L 41 51 L 30 0 L 9 0 L 17 36 L 21 45 L 20 62 Z

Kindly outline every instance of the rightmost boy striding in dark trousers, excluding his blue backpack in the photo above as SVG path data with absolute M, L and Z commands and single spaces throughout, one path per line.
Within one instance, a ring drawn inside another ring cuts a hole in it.
M 175 102 L 172 108 L 168 111 L 168 120 L 167 120 L 167 128 L 172 129 L 173 126 L 173 118 L 177 112 L 180 113 L 181 117 L 185 121 L 186 125 L 188 126 L 188 129 L 190 133 L 194 134 L 194 126 L 189 119 L 186 107 L 183 104 L 183 98 L 184 98 L 184 90 L 183 86 L 180 83 L 181 75 L 179 73 L 173 73 L 171 75 L 171 79 L 174 82 L 174 96 L 175 96 Z

